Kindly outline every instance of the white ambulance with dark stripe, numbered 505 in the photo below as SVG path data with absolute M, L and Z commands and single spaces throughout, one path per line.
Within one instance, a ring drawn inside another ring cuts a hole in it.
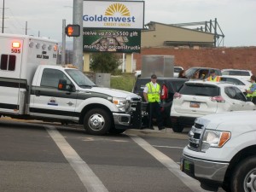
M 0 117 L 76 123 L 94 135 L 140 127 L 141 97 L 56 65 L 55 41 L 1 34 L 0 44 Z

